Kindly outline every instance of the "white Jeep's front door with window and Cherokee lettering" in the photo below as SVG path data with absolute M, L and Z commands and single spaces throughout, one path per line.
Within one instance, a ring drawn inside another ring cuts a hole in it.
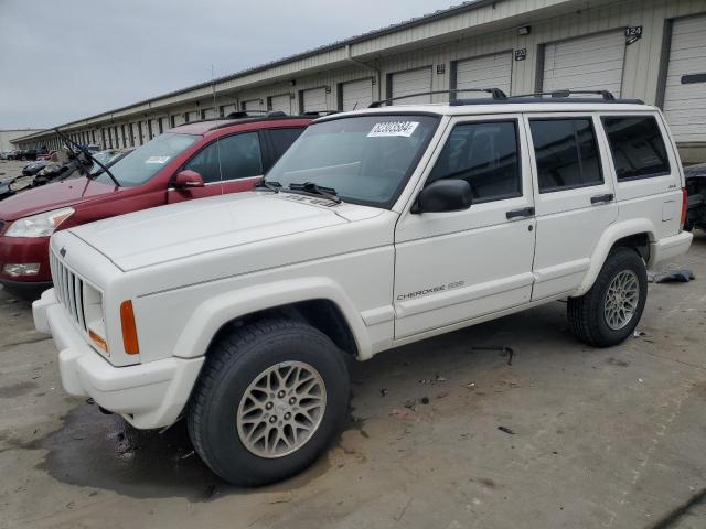
M 522 131 L 520 115 L 451 121 L 422 184 L 466 180 L 473 204 L 449 213 L 413 214 L 408 208 L 400 217 L 395 339 L 530 302 L 535 218 Z

